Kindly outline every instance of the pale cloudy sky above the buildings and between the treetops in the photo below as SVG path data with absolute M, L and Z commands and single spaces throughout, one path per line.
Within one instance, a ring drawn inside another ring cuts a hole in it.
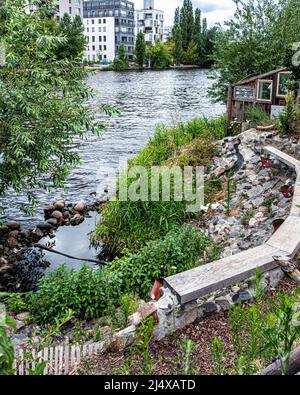
M 143 0 L 133 0 L 136 9 L 142 8 Z M 232 0 L 192 0 L 195 8 L 200 8 L 208 26 L 223 23 L 233 17 L 235 5 Z M 175 8 L 181 6 L 183 0 L 154 0 L 154 6 L 165 12 L 165 25 L 172 26 Z

